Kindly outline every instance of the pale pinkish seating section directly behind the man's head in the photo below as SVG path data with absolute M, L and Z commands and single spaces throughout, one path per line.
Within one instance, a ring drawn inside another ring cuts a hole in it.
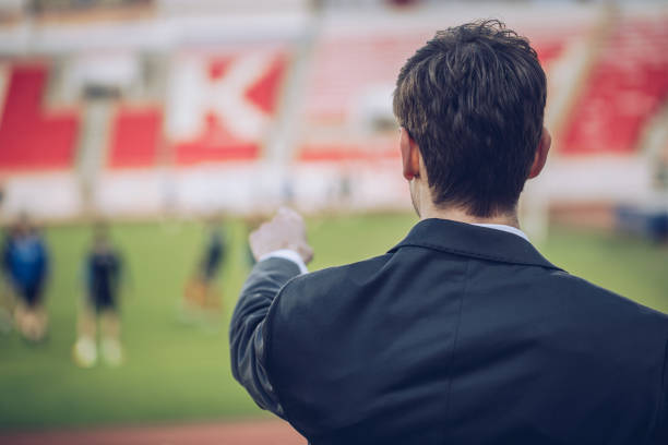
M 309 130 L 329 129 L 338 133 L 334 141 L 312 135 L 305 137 L 299 149 L 299 161 L 373 161 L 398 158 L 393 133 L 394 118 L 373 116 L 374 110 L 389 104 L 396 73 L 415 48 L 431 37 L 432 29 L 409 31 L 398 34 L 370 34 L 357 36 L 325 36 L 317 43 L 312 74 L 306 99 Z M 537 33 L 539 34 L 539 33 Z M 541 62 L 559 57 L 564 46 L 563 35 L 542 36 L 535 45 Z M 355 67 L 354 70 L 350 67 Z M 378 93 L 378 85 L 384 89 Z M 367 103 L 365 103 L 365 98 Z M 365 116 L 372 115 L 372 116 Z M 385 135 L 371 129 L 349 135 L 346 125 L 385 125 Z M 384 120 L 384 121 L 383 121 Z M 326 130 L 325 130 L 326 132 Z M 392 135 L 390 136 L 390 133 Z M 342 135 L 346 134 L 345 137 Z M 349 141 L 349 140 L 353 141 Z

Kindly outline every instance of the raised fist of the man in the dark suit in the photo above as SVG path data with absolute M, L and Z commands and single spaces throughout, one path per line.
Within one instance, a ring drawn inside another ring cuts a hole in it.
M 297 252 L 307 264 L 313 258 L 301 215 L 286 207 L 281 207 L 274 219 L 250 234 L 250 246 L 257 261 L 281 249 Z

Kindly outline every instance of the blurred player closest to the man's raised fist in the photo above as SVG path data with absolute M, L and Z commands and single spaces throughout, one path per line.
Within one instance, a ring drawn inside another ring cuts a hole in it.
M 219 314 L 222 302 L 215 279 L 223 267 L 226 250 L 225 232 L 219 221 L 214 220 L 210 224 L 204 252 L 193 276 L 186 285 L 183 305 L 189 315 L 207 320 Z

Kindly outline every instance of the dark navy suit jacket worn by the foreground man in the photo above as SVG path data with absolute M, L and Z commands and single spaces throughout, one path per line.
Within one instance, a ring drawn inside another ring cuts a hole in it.
M 253 268 L 231 364 L 312 444 L 668 444 L 668 316 L 521 237 L 427 219 L 298 273 Z

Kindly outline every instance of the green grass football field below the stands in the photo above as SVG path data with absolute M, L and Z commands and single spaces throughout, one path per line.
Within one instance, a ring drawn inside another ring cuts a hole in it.
M 410 215 L 311 218 L 311 269 L 369 257 L 398 242 Z M 246 230 L 227 225 L 230 251 L 219 279 L 224 315 L 215 328 L 179 322 L 183 285 L 205 240 L 196 222 L 116 226 L 131 282 L 123 294 L 127 363 L 82 370 L 71 360 L 86 227 L 47 230 L 52 274 L 46 342 L 0 335 L 0 428 L 45 428 L 266 416 L 229 371 L 227 324 L 248 273 Z M 612 234 L 552 230 L 539 246 L 553 263 L 595 284 L 668 312 L 668 249 Z

